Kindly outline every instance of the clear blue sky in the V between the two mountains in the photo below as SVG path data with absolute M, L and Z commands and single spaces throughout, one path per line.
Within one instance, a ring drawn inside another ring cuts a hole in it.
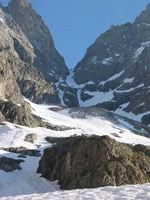
M 8 0 L 1 0 L 7 4 Z M 133 22 L 150 0 L 29 0 L 50 29 L 68 67 L 112 24 Z

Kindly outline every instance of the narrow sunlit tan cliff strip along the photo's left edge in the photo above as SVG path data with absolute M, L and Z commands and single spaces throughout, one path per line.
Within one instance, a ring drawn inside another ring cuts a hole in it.
M 10 57 L 14 57 L 13 39 L 8 34 L 1 7 L 0 16 L 0 99 L 22 103 L 23 98 L 10 64 Z

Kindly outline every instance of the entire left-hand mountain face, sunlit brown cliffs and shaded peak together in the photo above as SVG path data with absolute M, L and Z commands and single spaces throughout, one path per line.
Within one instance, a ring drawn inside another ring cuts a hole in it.
M 78 106 L 76 90 L 65 81 L 69 70 L 64 59 L 31 4 L 27 0 L 11 0 L 7 8 L 1 6 L 0 23 L 0 88 L 7 91 L 4 94 L 1 90 L 0 97 L 20 103 L 23 101 L 21 92 L 35 103 Z M 71 99 L 66 95 L 67 91 L 72 93 Z

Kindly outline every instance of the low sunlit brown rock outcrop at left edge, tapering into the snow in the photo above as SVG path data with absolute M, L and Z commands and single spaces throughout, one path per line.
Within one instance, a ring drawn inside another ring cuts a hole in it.
M 40 126 L 54 131 L 65 131 L 73 129 L 72 127 L 69 126 L 55 125 L 43 121 L 42 118 L 32 114 L 32 112 L 26 105 L 24 106 L 21 104 L 15 104 L 12 101 L 0 100 L 0 123 L 2 123 L 3 121 L 8 121 L 14 124 L 28 126 L 28 127 Z M 32 136 L 33 135 L 31 135 L 31 137 Z M 35 137 L 36 136 L 34 136 L 34 138 Z M 34 138 L 31 138 L 31 141 Z

